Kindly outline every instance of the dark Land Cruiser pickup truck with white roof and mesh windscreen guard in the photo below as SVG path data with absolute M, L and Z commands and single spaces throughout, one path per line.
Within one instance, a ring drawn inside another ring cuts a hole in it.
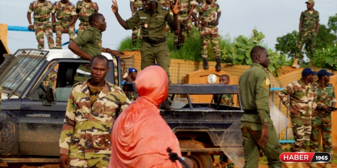
M 114 67 L 113 56 L 102 54 Z M 121 74 L 119 57 L 115 60 Z M 9 167 L 57 164 L 67 100 L 80 63 L 90 62 L 70 50 L 19 49 L 5 57 L 0 66 L 0 162 Z M 110 68 L 105 80 L 115 83 L 114 76 Z M 120 75 L 117 83 L 121 86 Z M 125 84 L 124 89 L 136 93 L 134 83 Z M 243 110 L 241 106 L 193 103 L 189 95 L 238 94 L 240 105 L 238 86 L 172 84 L 169 94 L 173 101 L 178 95 L 187 99 L 180 109 L 160 112 L 178 137 L 182 154 L 191 158 L 196 168 L 212 167 L 213 156 L 224 155 L 219 136 L 243 115 Z

